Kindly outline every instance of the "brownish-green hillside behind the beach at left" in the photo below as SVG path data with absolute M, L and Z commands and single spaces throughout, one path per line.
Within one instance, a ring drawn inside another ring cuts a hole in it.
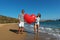
M 0 23 L 17 23 L 18 19 L 0 15 Z

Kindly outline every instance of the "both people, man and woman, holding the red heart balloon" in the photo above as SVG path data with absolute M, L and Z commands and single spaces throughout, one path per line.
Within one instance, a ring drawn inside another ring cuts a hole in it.
M 34 22 L 34 32 L 38 32 L 38 28 L 40 26 L 40 17 L 41 15 L 38 13 L 37 17 L 36 17 L 36 22 Z M 19 20 L 19 28 L 18 28 L 18 34 L 21 32 L 23 33 L 24 31 L 24 10 L 22 10 L 21 15 L 18 15 L 18 20 Z

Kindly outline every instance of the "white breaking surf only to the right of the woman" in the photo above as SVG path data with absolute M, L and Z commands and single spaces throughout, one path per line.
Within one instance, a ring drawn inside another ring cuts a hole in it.
M 48 33 L 49 35 L 53 35 L 60 39 L 60 30 L 59 29 L 40 27 L 40 30 L 41 30 L 40 32 Z

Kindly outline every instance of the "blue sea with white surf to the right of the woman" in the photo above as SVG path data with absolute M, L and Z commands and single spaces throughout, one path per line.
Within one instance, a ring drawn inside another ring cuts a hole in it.
M 53 35 L 60 40 L 60 21 L 55 22 L 41 22 L 41 32 Z

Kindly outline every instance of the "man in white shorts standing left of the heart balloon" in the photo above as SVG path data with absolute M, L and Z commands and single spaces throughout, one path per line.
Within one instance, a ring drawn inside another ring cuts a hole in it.
M 21 15 L 18 15 L 18 19 L 19 19 L 19 29 L 18 29 L 18 33 L 23 32 L 24 31 L 24 10 L 22 10 Z

